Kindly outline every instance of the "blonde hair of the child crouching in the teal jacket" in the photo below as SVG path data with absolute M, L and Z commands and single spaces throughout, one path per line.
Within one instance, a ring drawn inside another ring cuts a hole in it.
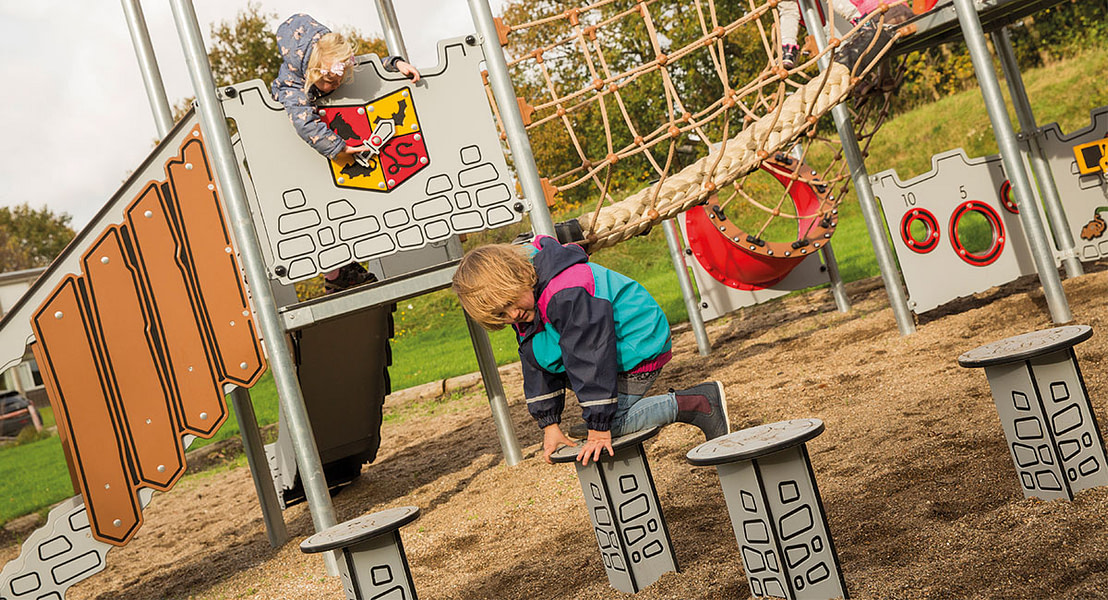
M 537 279 L 524 248 L 493 244 L 462 257 L 451 289 L 474 321 L 495 331 L 512 322 L 507 308 L 534 288 Z

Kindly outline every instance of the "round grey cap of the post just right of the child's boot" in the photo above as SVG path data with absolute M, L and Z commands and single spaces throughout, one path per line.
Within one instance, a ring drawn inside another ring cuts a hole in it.
M 699 466 L 749 461 L 799 446 L 821 433 L 823 433 L 823 422 L 819 418 L 780 421 L 709 439 L 690 449 L 686 458 Z

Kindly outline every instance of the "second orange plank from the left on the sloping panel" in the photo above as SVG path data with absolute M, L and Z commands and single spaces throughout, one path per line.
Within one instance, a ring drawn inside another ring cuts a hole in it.
M 123 426 L 140 482 L 166 490 L 185 472 L 174 394 L 143 307 L 140 275 L 127 263 L 119 227 L 110 227 L 82 257 L 89 302 L 103 340 Z

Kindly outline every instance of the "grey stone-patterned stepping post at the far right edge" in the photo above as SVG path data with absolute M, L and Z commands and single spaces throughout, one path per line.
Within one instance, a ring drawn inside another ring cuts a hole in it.
M 1074 499 L 1108 485 L 1104 439 L 1074 346 L 1088 325 L 1065 325 L 985 344 L 958 356 L 984 368 L 1027 498 Z

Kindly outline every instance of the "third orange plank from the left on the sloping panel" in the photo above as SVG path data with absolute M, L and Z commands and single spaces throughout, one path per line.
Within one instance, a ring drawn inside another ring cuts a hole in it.
M 201 333 L 171 219 L 156 184 L 151 184 L 127 209 L 135 259 L 146 277 L 176 384 L 181 428 L 211 437 L 227 418 L 227 407 Z

